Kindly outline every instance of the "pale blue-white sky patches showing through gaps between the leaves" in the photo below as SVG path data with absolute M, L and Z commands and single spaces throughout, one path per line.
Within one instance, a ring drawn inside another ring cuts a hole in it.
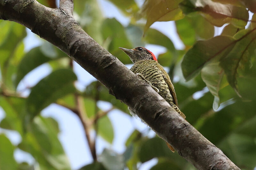
M 143 4 L 143 0 L 136 0 L 139 5 Z M 100 8 L 103 15 L 106 18 L 116 18 L 124 26 L 128 25 L 130 20 L 125 17 L 113 4 L 109 3 L 107 0 L 98 0 Z M 174 21 L 169 22 L 155 22 L 151 25 L 151 28 L 155 28 L 167 37 L 169 37 L 176 49 L 183 49 L 184 45 L 181 42 L 175 28 Z M 223 27 L 215 27 L 215 35 L 221 33 Z M 31 48 L 39 46 L 42 44 L 42 40 L 38 38 L 34 33 L 27 29 L 27 37 L 24 39 L 25 51 L 28 52 Z M 152 51 L 156 56 L 160 53 L 164 53 L 166 49 L 161 46 L 156 45 L 146 45 L 147 49 Z M 117 56 L 118 57 L 118 56 Z M 130 68 L 132 65 L 127 65 Z M 96 79 L 92 77 L 88 72 L 86 72 L 82 67 L 74 62 L 74 71 L 78 77 L 76 82 L 76 87 L 78 89 L 84 89 L 88 84 Z M 43 64 L 32 72 L 30 72 L 19 84 L 18 90 L 25 89 L 27 86 L 32 87 L 36 85 L 38 81 L 51 73 L 51 67 L 48 64 Z M 206 89 L 207 91 L 207 89 Z M 25 90 L 22 94 L 28 96 L 30 93 L 29 90 Z M 195 97 L 200 97 L 200 94 L 197 94 Z M 111 104 L 107 102 L 98 102 L 97 103 L 101 110 L 108 110 L 111 107 Z M 45 117 L 53 117 L 58 121 L 60 127 L 59 139 L 60 142 L 68 156 L 70 161 L 71 168 L 76 170 L 81 166 L 92 163 L 93 159 L 90 154 L 88 143 L 85 138 L 84 129 L 81 124 L 80 119 L 72 113 L 70 110 L 59 106 L 57 104 L 51 104 L 45 108 L 42 113 Z M 139 130 L 140 132 L 147 132 L 149 137 L 155 136 L 155 133 L 150 130 L 150 128 L 141 123 L 140 120 L 129 115 L 122 113 L 118 110 L 113 110 L 108 114 L 109 119 L 114 128 L 114 141 L 113 144 L 105 142 L 102 138 L 98 137 L 96 142 L 97 154 L 100 155 L 104 148 L 111 148 L 117 153 L 123 153 L 125 151 L 125 141 L 134 131 L 134 129 Z M 4 111 L 0 108 L 0 120 L 4 118 Z M 18 145 L 21 142 L 21 137 L 18 132 L 7 131 L 0 129 L 0 132 L 4 132 L 11 142 L 14 145 Z M 93 135 L 93 131 L 92 131 Z M 28 161 L 33 163 L 34 159 L 30 154 L 23 152 L 17 149 L 14 153 L 15 159 L 19 162 Z M 148 170 L 150 167 L 157 163 L 157 159 L 152 159 L 147 163 L 143 164 L 140 167 L 140 170 Z

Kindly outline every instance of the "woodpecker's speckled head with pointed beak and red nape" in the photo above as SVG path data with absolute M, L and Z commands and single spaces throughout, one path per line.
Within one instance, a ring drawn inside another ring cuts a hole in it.
M 156 56 L 144 47 L 136 47 L 131 50 L 122 47 L 119 48 L 130 57 L 133 64 L 140 60 L 156 60 Z

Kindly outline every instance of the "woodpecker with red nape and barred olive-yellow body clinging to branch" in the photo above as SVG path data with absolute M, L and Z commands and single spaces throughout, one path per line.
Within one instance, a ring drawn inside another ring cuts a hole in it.
M 156 56 L 144 47 L 136 47 L 134 49 L 119 48 L 132 60 L 134 65 L 131 71 L 138 78 L 150 84 L 185 119 L 186 116 L 178 108 L 177 96 L 172 81 L 164 68 L 156 60 Z M 174 152 L 174 148 L 167 142 L 166 144 Z

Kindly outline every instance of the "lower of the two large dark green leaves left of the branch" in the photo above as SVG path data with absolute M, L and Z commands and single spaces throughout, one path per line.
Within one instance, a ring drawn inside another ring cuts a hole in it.
M 76 74 L 72 70 L 60 69 L 39 81 L 27 98 L 26 106 L 30 118 L 34 118 L 57 99 L 75 92 L 73 83 L 76 79 Z

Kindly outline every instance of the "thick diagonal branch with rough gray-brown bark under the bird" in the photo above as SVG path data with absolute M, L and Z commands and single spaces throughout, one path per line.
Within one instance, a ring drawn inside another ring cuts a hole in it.
M 72 0 L 60 0 L 57 9 L 45 7 L 35 0 L 0 0 L 0 19 L 28 27 L 67 53 L 197 169 L 239 169 L 150 85 L 138 80 L 123 63 L 84 32 L 72 13 Z

